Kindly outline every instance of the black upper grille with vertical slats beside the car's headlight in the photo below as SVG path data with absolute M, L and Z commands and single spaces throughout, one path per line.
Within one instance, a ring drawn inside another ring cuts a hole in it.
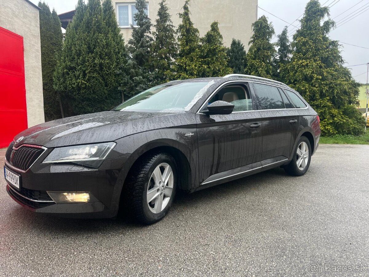
M 17 150 L 14 150 L 13 143 L 11 143 L 6 151 L 5 157 L 14 167 L 27 170 L 38 159 L 42 152 L 44 152 L 44 149 L 31 146 L 21 146 Z

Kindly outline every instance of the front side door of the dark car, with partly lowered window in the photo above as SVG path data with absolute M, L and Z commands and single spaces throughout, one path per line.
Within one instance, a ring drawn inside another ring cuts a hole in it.
M 248 84 L 224 85 L 204 106 L 216 100 L 230 102 L 235 109 L 225 115 L 196 114 L 202 185 L 261 166 L 263 126 Z

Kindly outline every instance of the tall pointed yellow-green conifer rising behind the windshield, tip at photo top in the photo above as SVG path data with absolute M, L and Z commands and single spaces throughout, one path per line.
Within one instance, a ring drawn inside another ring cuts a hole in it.
M 179 51 L 173 66 L 174 79 L 190 79 L 201 77 L 204 68 L 201 59 L 200 34 L 190 18 L 190 0 L 186 0 L 183 13 L 179 14 L 182 22 L 177 29 Z

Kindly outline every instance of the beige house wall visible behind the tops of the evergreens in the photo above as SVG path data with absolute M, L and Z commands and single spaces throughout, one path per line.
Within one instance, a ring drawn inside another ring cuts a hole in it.
M 113 0 L 117 3 L 132 3 L 134 0 Z M 148 0 L 149 17 L 155 24 L 160 0 Z M 180 23 L 178 13 L 182 12 L 184 0 L 167 0 L 172 21 L 175 26 Z M 190 11 L 191 19 L 200 35 L 203 36 L 210 29 L 213 21 L 219 22 L 220 32 L 223 35 L 224 45 L 230 46 L 232 38 L 241 40 L 248 50 L 251 37 L 251 24 L 256 20 L 256 6 L 258 0 L 192 0 Z M 131 37 L 131 28 L 121 28 L 125 41 Z

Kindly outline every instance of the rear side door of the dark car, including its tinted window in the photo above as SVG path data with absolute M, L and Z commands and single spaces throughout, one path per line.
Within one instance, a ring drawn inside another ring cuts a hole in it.
M 287 161 L 296 138 L 299 116 L 277 86 L 253 82 L 258 110 L 263 118 L 263 166 Z

